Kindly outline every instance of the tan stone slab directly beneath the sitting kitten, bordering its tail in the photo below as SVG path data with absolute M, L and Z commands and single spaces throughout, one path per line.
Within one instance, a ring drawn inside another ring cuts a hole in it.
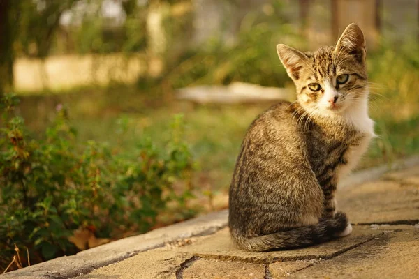
M 355 246 L 382 234 L 379 229 L 369 226 L 355 226 L 350 236 L 335 239 L 317 246 L 295 250 L 274 252 L 247 252 L 239 250 L 230 239 L 228 228 L 211 236 L 201 237 L 191 246 L 179 248 L 179 252 L 203 257 L 204 259 L 218 259 L 233 262 L 251 262 L 253 264 L 270 264 L 279 261 L 293 261 L 299 259 L 329 259 Z

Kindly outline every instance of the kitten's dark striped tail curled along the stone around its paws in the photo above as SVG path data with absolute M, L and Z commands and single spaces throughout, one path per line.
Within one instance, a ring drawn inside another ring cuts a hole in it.
M 312 246 L 351 233 L 346 214 L 337 212 L 334 218 L 321 220 L 315 225 L 299 227 L 285 232 L 244 238 L 233 233 L 233 239 L 240 248 L 249 251 L 286 250 Z

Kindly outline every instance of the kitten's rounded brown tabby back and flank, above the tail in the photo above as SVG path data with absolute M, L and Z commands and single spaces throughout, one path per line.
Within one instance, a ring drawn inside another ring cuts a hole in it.
M 229 224 L 233 234 L 277 232 L 277 224 L 288 224 L 297 215 L 305 216 L 302 211 L 308 208 L 306 197 L 314 195 L 314 200 L 321 200 L 314 179 L 299 182 L 300 178 L 314 178 L 314 174 L 298 119 L 297 107 L 282 101 L 260 114 L 247 130 L 230 184 Z M 311 206 L 309 211 L 316 214 L 320 209 Z M 255 232 L 259 227 L 263 229 Z

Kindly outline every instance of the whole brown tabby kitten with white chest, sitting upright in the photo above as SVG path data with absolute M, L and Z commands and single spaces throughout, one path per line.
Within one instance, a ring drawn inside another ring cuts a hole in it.
M 314 245 L 351 234 L 336 212 L 337 183 L 374 137 L 368 116 L 365 38 L 350 24 L 335 47 L 277 45 L 297 101 L 253 121 L 230 186 L 233 241 L 251 251 Z

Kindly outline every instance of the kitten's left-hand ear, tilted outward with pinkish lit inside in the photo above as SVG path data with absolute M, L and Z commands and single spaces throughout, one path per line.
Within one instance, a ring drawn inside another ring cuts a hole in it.
M 283 44 L 277 45 L 277 52 L 279 59 L 281 59 L 281 62 L 286 68 L 286 73 L 293 80 L 298 80 L 300 78 L 300 70 L 304 66 L 304 63 L 306 63 L 307 56 L 299 50 Z

